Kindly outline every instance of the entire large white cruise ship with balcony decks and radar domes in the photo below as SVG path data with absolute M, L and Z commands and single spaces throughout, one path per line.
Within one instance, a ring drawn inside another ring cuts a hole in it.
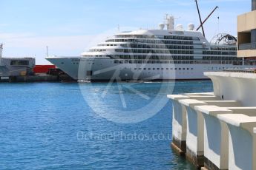
M 118 33 L 79 57 L 46 59 L 79 81 L 206 79 L 203 72 L 249 67 L 237 58 L 234 36 L 219 34 L 209 42 L 194 24 L 174 29 L 173 16 L 159 30 Z

